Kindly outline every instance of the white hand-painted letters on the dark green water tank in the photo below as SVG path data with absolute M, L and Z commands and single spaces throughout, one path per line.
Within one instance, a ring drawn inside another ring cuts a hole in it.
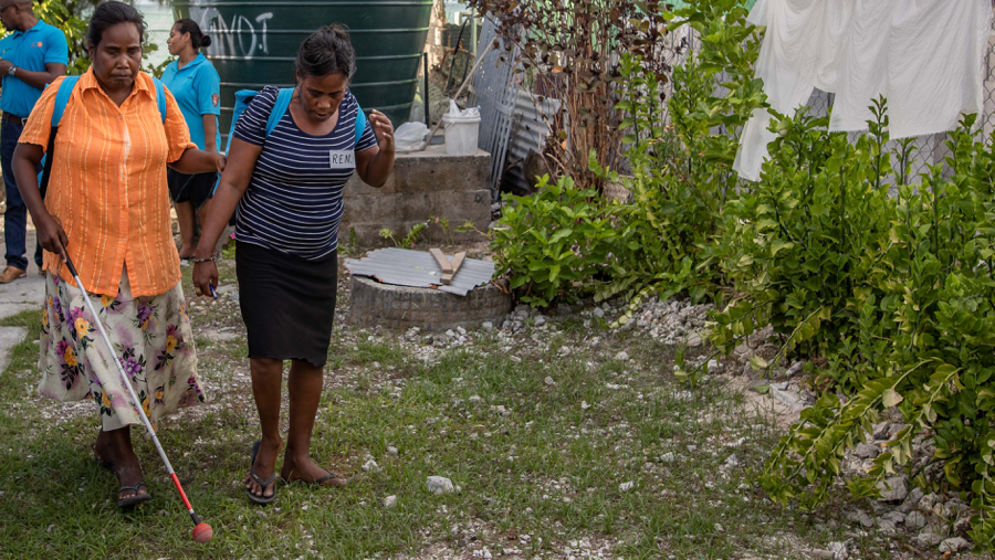
M 190 19 L 211 35 L 213 42 L 206 49 L 209 56 L 249 60 L 270 54 L 266 28 L 273 12 L 235 13 L 227 18 L 217 8 L 191 6 Z

